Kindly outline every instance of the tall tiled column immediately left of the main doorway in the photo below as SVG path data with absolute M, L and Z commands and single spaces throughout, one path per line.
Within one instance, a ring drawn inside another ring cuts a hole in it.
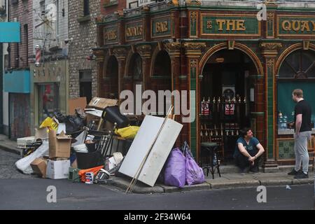
M 200 56 L 202 55 L 202 48 L 206 47 L 206 43 L 184 43 L 185 53 L 186 53 L 186 62 L 188 67 L 187 73 L 187 86 L 188 86 L 188 106 L 190 108 L 190 116 L 195 116 L 191 118 L 194 120 L 192 123 L 183 123 L 184 127 L 188 129 L 188 141 L 190 148 L 195 156 L 197 156 L 197 161 L 199 157 L 199 62 Z M 192 102 L 189 102 L 190 91 L 195 91 L 195 98 L 192 99 Z M 195 102 L 194 102 L 195 100 Z

